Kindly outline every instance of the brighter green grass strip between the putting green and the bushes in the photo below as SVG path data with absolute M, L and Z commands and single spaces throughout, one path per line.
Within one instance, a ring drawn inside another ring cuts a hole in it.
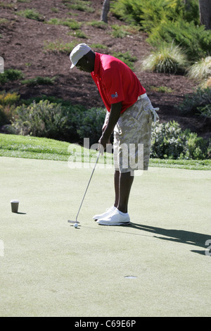
M 78 144 L 58 140 L 21 135 L 0 134 L 0 156 L 15 158 L 37 158 L 41 160 L 68 161 L 82 156 L 82 161 L 94 162 L 96 151 L 84 149 Z M 80 160 L 80 158 L 79 158 Z M 99 163 L 112 162 L 112 154 L 105 153 Z M 76 160 L 77 161 L 77 160 Z M 184 168 L 190 170 L 211 170 L 211 160 L 168 160 L 151 158 L 151 167 Z

